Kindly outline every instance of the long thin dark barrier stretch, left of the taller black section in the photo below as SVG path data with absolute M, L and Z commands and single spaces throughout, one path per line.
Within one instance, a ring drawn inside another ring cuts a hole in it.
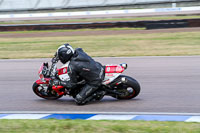
M 112 28 L 112 27 L 144 27 L 144 24 L 142 22 L 19 24 L 19 25 L 0 25 L 0 31 Z

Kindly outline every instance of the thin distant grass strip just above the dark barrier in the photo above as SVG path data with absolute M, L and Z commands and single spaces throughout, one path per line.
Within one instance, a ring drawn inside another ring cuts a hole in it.
M 40 24 L 40 23 L 74 23 L 74 22 L 105 22 L 105 21 L 143 21 L 170 19 L 197 19 L 199 15 L 189 16 L 156 16 L 156 17 L 124 17 L 124 18 L 92 18 L 92 19 L 62 19 L 62 20 L 32 20 L 32 21 L 1 21 L 0 24 Z

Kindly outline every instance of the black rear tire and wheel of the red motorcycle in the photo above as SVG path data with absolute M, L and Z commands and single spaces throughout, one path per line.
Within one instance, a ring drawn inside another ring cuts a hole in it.
M 117 91 L 123 93 L 124 95 L 117 95 L 114 97 L 120 100 L 132 99 L 136 97 L 140 93 L 140 84 L 132 77 L 125 75 L 120 75 L 116 80 L 119 81 L 122 77 L 125 77 L 126 81 L 125 83 L 121 83 L 117 86 Z M 129 91 L 131 89 L 132 92 L 129 92 L 128 89 Z

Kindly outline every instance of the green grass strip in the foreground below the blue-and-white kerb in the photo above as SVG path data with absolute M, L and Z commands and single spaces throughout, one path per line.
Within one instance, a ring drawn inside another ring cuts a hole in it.
M 1 133 L 199 133 L 200 123 L 93 120 L 0 120 Z

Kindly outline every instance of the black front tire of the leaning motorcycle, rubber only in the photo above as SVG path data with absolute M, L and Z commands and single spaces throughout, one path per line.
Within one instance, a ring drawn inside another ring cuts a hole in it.
M 41 86 L 35 82 L 33 84 L 32 88 L 33 88 L 33 92 L 41 98 L 44 98 L 44 99 L 47 99 L 47 100 L 56 100 L 56 99 L 59 99 L 63 96 L 63 95 L 58 95 L 56 92 L 54 94 L 51 94 L 51 95 L 45 95 L 41 90 L 39 90 L 39 87 L 41 87 Z

